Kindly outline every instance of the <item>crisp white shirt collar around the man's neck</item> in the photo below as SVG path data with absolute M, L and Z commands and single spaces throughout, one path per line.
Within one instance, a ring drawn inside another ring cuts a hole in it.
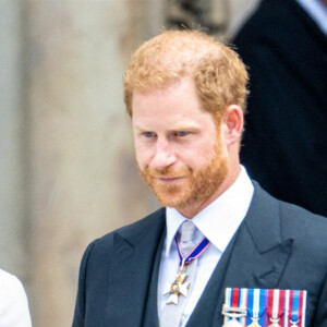
M 223 252 L 234 232 L 245 217 L 253 196 L 253 184 L 241 166 L 235 182 L 207 207 L 199 211 L 192 221 L 219 251 Z M 235 205 L 237 204 L 237 205 Z M 166 208 L 167 237 L 166 255 L 169 255 L 175 233 L 184 220 L 177 209 Z

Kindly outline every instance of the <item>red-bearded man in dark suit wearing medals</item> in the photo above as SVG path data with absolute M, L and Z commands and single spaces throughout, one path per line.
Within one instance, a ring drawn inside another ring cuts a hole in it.
M 198 32 L 135 51 L 125 104 L 164 208 L 87 247 L 74 327 L 327 326 L 327 220 L 240 165 L 246 83 L 238 55 Z

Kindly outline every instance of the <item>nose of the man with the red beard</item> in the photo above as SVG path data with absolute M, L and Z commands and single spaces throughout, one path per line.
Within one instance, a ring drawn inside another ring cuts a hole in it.
M 175 162 L 175 155 L 173 146 L 167 141 L 158 141 L 156 144 L 155 155 L 152 160 L 150 167 L 157 170 L 165 168 Z

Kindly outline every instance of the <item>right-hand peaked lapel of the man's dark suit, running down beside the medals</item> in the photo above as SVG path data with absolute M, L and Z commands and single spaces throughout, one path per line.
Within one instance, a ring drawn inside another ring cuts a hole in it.
M 222 326 L 227 287 L 278 288 L 292 243 L 291 239 L 282 240 L 278 201 L 255 183 L 249 213 L 221 256 L 187 326 L 198 326 L 201 312 L 208 312 L 211 303 L 216 303 L 215 313 L 207 318 L 211 323 L 202 319 L 201 326 Z

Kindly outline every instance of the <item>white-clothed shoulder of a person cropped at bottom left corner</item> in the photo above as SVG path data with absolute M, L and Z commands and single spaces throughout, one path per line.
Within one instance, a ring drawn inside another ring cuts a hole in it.
M 22 282 L 0 269 L 0 327 L 32 327 Z

